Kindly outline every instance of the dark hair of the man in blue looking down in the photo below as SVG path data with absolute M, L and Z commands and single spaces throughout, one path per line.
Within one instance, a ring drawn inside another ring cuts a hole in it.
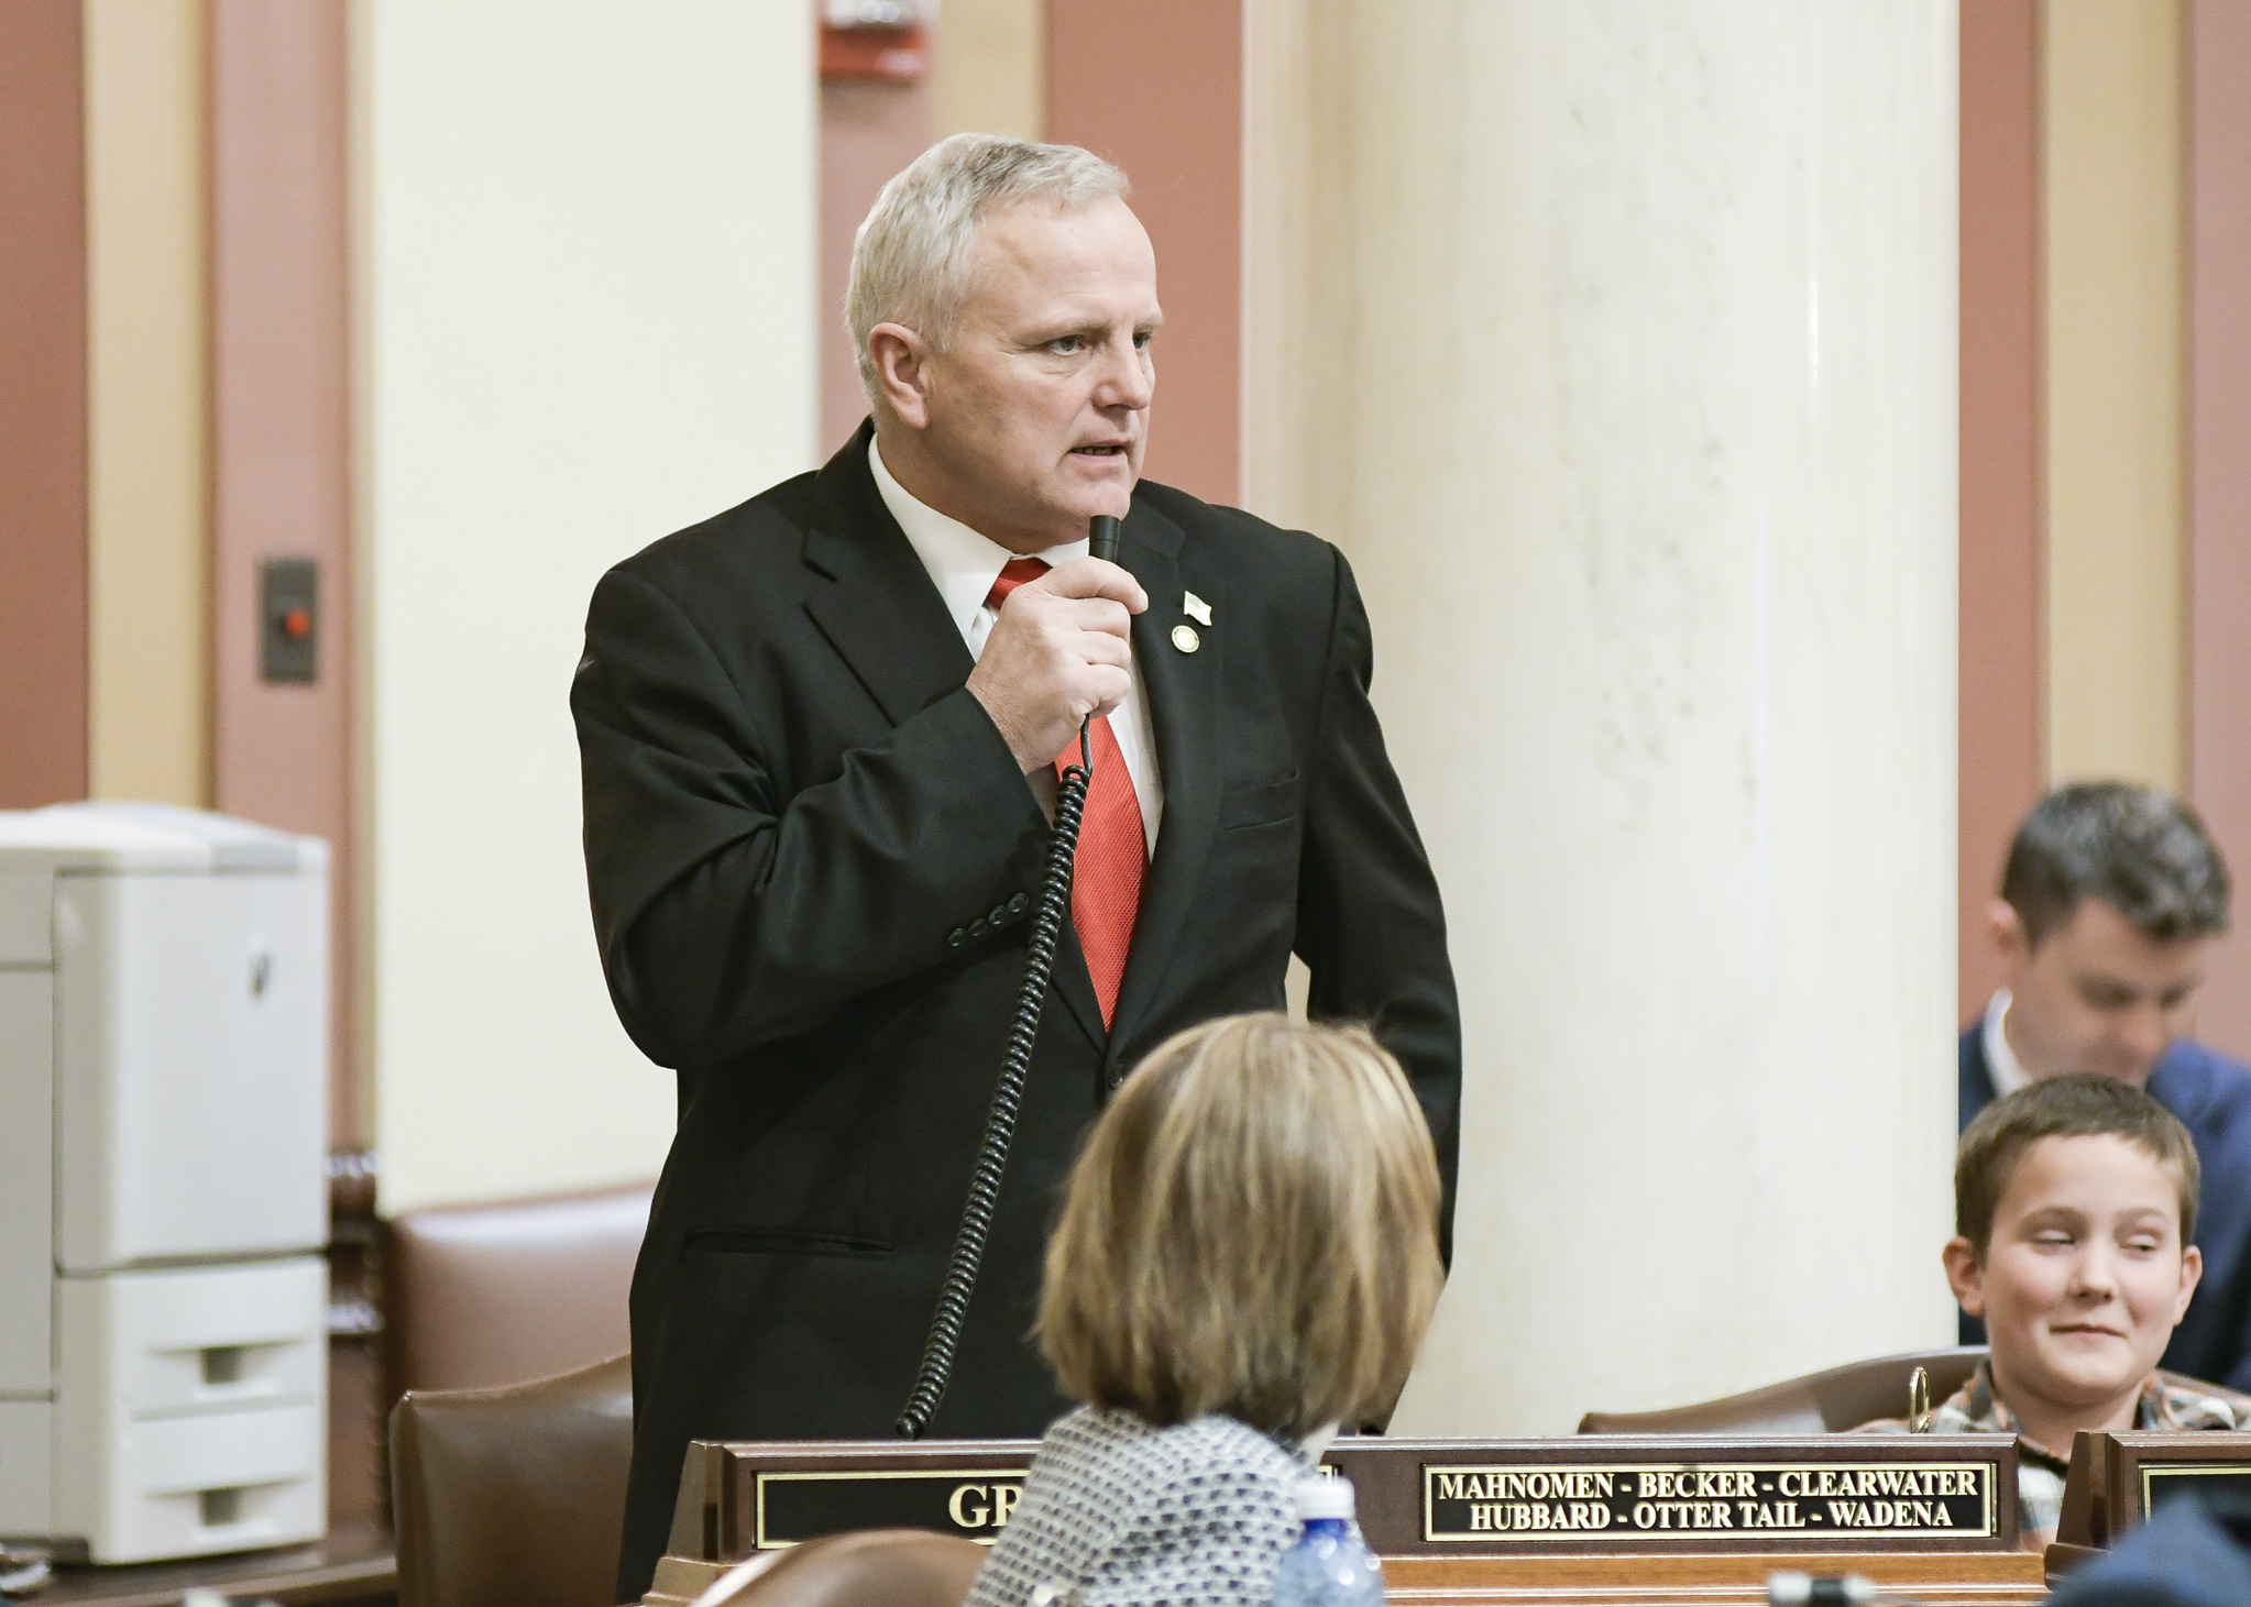
M 2026 943 L 2100 898 L 2156 943 L 2228 927 L 2228 867 L 2181 799 L 2125 781 L 2075 781 L 2033 806 L 2008 849 L 2001 898 Z

